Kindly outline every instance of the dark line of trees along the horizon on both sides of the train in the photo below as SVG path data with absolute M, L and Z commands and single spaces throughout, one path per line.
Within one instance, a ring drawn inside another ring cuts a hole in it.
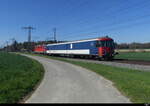
M 62 43 L 66 41 L 58 41 L 57 43 Z M 26 52 L 26 51 L 33 51 L 35 46 L 37 45 L 46 45 L 46 44 L 53 44 L 56 43 L 55 41 L 37 41 L 37 42 L 23 42 L 18 43 L 16 40 L 11 45 L 5 46 L 1 48 L 1 51 L 8 51 L 8 52 Z M 115 43 L 116 49 L 150 49 L 150 43 L 122 43 L 118 44 Z

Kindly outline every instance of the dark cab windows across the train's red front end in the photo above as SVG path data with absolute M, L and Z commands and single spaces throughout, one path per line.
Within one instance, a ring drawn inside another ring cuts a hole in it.
M 115 48 L 114 41 L 113 40 L 107 40 L 107 41 L 98 41 L 96 44 L 96 47 L 110 47 Z

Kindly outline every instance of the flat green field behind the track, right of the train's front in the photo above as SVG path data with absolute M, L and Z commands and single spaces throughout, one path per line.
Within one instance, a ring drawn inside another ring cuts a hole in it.
M 150 52 L 128 52 L 119 53 L 116 55 L 116 59 L 129 59 L 129 60 L 145 60 L 150 61 Z

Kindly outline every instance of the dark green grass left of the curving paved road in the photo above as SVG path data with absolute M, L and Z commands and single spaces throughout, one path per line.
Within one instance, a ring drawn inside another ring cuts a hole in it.
M 0 103 L 18 103 L 30 93 L 44 74 L 37 61 L 0 52 Z

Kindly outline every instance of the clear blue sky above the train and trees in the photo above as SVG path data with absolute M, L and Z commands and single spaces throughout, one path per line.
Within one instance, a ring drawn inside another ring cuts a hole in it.
M 0 46 L 28 39 L 73 41 L 110 36 L 117 43 L 150 42 L 150 0 L 0 0 Z

